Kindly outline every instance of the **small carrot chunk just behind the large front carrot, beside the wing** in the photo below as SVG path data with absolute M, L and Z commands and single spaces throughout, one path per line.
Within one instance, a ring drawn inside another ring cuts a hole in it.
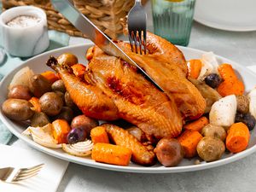
M 105 127 L 96 126 L 90 131 L 92 143 L 109 143 L 108 133 Z

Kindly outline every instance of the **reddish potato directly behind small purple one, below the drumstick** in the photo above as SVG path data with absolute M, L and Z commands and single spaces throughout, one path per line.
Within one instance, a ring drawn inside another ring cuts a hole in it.
M 84 114 L 76 116 L 71 122 L 72 129 L 84 129 L 87 133 L 87 136 L 90 136 L 90 130 L 98 125 L 99 122 L 97 120 L 86 117 Z

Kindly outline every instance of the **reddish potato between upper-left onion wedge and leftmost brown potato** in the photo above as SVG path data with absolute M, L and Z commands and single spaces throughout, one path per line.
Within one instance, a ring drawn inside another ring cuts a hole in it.
M 27 86 L 17 84 L 9 90 L 7 97 L 13 98 L 13 99 L 30 100 L 32 96 L 31 96 L 30 90 Z

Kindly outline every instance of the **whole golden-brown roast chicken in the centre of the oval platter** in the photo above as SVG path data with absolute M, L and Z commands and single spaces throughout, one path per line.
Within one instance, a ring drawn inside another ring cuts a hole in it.
M 141 128 L 148 137 L 177 137 L 184 119 L 201 116 L 206 102 L 191 84 L 186 61 L 174 45 L 148 32 L 148 54 L 131 52 L 130 45 L 117 42 L 134 61 L 165 90 L 154 87 L 129 63 L 107 55 L 94 46 L 84 79 L 76 77 L 54 57 L 48 61 L 64 81 L 73 102 L 94 119 L 125 119 Z

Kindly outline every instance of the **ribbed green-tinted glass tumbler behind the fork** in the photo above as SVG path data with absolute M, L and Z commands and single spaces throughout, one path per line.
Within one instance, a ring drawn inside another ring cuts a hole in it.
M 189 44 L 195 0 L 151 0 L 154 33 L 172 44 Z

